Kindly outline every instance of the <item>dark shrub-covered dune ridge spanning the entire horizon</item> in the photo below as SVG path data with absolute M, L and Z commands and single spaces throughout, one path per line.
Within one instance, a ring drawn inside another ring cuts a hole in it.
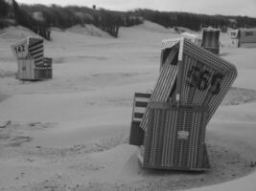
M 44 6 L 18 5 L 15 0 L 0 0 L 0 29 L 10 25 L 29 28 L 50 40 L 51 27 L 65 30 L 75 25 L 93 24 L 104 32 L 118 37 L 120 27 L 130 27 L 143 23 L 144 20 L 157 23 L 165 28 L 184 27 L 199 31 L 201 27 L 253 28 L 256 18 L 247 16 L 206 15 L 180 11 L 152 11 L 137 9 L 134 11 L 108 11 L 88 7 L 58 5 Z

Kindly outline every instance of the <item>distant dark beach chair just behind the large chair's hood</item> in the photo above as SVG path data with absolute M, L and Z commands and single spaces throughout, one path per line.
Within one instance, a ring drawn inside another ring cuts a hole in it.
M 219 54 L 220 53 L 220 33 L 221 30 L 213 28 L 202 29 L 201 47 L 204 49 Z

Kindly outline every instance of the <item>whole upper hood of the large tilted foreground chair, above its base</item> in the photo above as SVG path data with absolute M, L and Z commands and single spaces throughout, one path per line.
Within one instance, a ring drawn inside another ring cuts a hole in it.
M 163 40 L 160 75 L 150 102 L 168 102 L 175 98 L 177 105 L 208 108 L 208 123 L 236 76 L 237 69 L 233 64 L 189 39 Z M 147 109 L 140 124 L 145 131 L 148 113 Z

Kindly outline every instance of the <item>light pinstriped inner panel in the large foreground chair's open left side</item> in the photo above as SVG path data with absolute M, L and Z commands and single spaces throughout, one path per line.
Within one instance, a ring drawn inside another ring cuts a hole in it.
M 175 87 L 177 76 L 177 65 L 164 64 L 158 77 L 155 88 L 151 94 L 150 102 L 167 102 L 170 94 Z M 146 109 L 145 115 L 140 123 L 141 128 L 146 131 L 149 120 L 149 107 Z

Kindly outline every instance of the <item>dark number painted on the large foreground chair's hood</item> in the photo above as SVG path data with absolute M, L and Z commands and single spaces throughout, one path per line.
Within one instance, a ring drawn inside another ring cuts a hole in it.
M 211 94 L 218 95 L 221 91 L 222 78 L 223 75 L 220 73 L 214 74 L 208 70 L 202 70 L 201 67 L 192 66 L 187 74 L 186 83 L 199 91 L 209 88 Z

